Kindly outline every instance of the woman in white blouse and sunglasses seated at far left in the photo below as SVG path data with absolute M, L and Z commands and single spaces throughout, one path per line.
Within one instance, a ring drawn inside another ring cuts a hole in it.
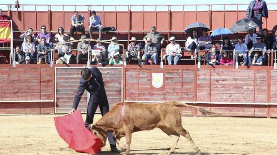
M 23 43 L 23 52 L 25 53 L 25 57 L 29 56 L 31 58 L 31 61 L 34 62 L 36 58 L 36 45 L 34 44 L 31 35 L 26 36 L 25 43 Z

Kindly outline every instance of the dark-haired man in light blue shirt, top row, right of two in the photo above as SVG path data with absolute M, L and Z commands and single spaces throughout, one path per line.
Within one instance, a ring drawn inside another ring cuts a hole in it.
M 99 31 L 99 39 L 101 39 L 102 34 L 102 24 L 99 16 L 96 15 L 96 12 L 91 11 L 91 17 L 89 18 L 88 33 L 90 39 L 92 39 L 92 31 Z

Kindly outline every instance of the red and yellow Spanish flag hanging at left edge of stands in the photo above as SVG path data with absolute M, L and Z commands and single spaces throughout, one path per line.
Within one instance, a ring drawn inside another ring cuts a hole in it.
M 0 21 L 0 43 L 11 42 L 11 22 Z

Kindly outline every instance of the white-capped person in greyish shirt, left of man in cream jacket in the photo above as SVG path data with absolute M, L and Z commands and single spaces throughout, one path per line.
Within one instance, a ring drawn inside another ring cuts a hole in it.
M 144 54 L 142 56 L 142 59 L 152 59 L 155 65 L 157 65 L 159 55 L 156 49 L 156 44 L 152 43 L 152 39 L 150 37 L 147 38 L 146 41 L 147 44 L 145 44 L 144 46 Z

